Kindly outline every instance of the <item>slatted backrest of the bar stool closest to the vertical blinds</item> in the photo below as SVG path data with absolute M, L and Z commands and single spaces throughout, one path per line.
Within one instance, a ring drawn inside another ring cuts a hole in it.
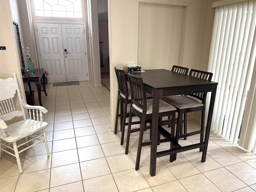
M 200 71 L 200 70 L 196 70 L 196 69 L 191 69 L 189 72 L 190 76 L 196 77 L 196 78 L 200 78 L 200 79 L 204 79 L 204 80 L 212 80 L 212 73 L 211 72 L 206 72 L 206 71 Z M 206 100 L 206 95 L 207 93 L 193 93 L 193 94 L 188 94 L 190 96 L 193 96 L 199 100 L 202 100 L 202 103 L 205 103 Z

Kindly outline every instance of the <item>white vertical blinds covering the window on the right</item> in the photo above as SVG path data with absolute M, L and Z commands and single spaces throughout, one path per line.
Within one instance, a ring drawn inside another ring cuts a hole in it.
M 212 80 L 218 82 L 211 129 L 233 143 L 238 139 L 247 143 L 240 145 L 244 148 L 248 148 L 250 139 L 250 146 L 256 145 L 255 73 L 252 78 L 256 57 L 255 4 L 252 0 L 215 9 L 208 63 Z M 241 124 L 246 128 L 241 130 Z

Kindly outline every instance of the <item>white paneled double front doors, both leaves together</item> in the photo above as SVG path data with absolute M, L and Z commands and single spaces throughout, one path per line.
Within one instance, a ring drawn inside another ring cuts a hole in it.
M 84 24 L 36 22 L 38 55 L 48 82 L 88 80 Z

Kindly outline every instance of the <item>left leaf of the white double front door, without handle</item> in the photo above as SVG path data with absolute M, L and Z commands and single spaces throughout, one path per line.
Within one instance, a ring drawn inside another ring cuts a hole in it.
M 48 82 L 66 82 L 61 24 L 36 23 L 42 68 Z

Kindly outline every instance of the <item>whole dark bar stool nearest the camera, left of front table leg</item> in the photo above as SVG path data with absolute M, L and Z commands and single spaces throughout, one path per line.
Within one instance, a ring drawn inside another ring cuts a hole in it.
M 128 130 L 127 130 L 127 139 L 126 139 L 126 148 L 125 154 L 128 154 L 129 149 L 129 141 L 130 141 L 130 133 L 131 133 L 131 122 L 132 115 L 136 115 L 140 118 L 140 128 L 136 129 L 140 132 L 139 143 L 138 143 L 138 151 L 136 158 L 136 166 L 135 170 L 139 169 L 140 165 L 140 154 L 142 146 L 150 145 L 151 142 L 142 142 L 144 130 L 148 127 L 145 127 L 145 120 L 152 119 L 152 109 L 153 109 L 153 99 L 146 98 L 146 92 L 144 89 L 144 83 L 142 78 L 133 76 L 128 73 L 128 79 L 131 88 L 131 106 L 130 106 L 130 115 L 128 122 Z M 176 108 L 166 102 L 160 100 L 159 102 L 159 122 L 163 116 L 171 116 L 172 124 L 171 124 L 171 135 L 174 135 L 174 125 L 175 125 L 175 112 Z M 166 136 L 166 130 L 164 131 L 162 127 L 158 127 L 158 142 L 160 143 L 160 134 Z M 171 141 L 171 138 L 163 139 L 162 142 Z M 174 148 L 174 145 L 171 143 L 171 149 Z M 172 160 L 173 155 L 170 156 L 170 160 Z

